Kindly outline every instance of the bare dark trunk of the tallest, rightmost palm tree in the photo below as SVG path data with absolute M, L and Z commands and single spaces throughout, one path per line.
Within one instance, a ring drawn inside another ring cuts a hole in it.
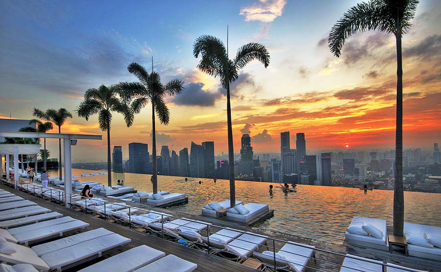
M 395 186 L 393 190 L 393 235 L 404 232 L 403 191 L 403 63 L 401 33 L 396 37 L 396 132 L 395 132 Z

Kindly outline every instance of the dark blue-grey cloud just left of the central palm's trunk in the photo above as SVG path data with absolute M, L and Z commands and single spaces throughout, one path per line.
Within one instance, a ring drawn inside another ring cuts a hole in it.
M 182 93 L 173 97 L 171 101 L 176 105 L 201 107 L 214 106 L 216 100 L 222 97 L 221 92 L 204 91 L 203 87 L 203 83 L 187 84 Z

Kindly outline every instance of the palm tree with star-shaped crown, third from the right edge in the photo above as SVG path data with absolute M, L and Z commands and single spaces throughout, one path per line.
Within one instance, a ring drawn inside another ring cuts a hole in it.
M 167 96 L 178 95 L 183 90 L 184 82 L 180 79 L 174 79 L 163 85 L 158 73 L 152 72 L 148 74 L 147 70 L 138 63 L 130 63 L 127 70 L 134 74 L 139 82 L 127 83 L 121 82 L 121 89 L 127 93 L 127 97 L 131 97 L 131 109 L 133 113 L 138 114 L 141 109 L 151 103 L 151 138 L 152 138 L 152 170 L 153 170 L 153 193 L 158 192 L 158 169 L 156 164 L 156 128 L 155 128 L 155 112 L 159 121 L 163 125 L 168 125 L 170 121 L 170 111 L 165 103 Z

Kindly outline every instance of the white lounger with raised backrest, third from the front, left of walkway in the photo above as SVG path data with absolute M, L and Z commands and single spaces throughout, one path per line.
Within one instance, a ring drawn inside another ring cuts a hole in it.
M 28 247 L 7 242 L 17 252 L 12 254 L 0 253 L 0 261 L 11 264 L 27 263 L 40 271 L 61 271 L 62 269 L 74 267 L 83 262 L 98 258 L 103 252 L 114 250 L 129 242 L 130 239 L 113 233 L 51 251 L 41 255 L 41 257 Z

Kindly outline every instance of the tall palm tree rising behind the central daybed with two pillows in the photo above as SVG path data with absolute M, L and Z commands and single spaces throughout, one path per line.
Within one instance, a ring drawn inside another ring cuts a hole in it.
M 234 185 L 234 149 L 233 128 L 231 126 L 230 83 L 235 82 L 239 77 L 239 71 L 253 60 L 261 62 L 265 68 L 268 67 L 270 64 L 270 53 L 264 45 L 250 42 L 240 47 L 237 50 L 236 58 L 230 60 L 228 59 L 228 49 L 225 49 L 225 45 L 220 39 L 204 35 L 197 38 L 193 44 L 193 55 L 197 58 L 199 54 L 202 58 L 199 64 L 197 64 L 197 68 L 211 76 L 219 77 L 222 87 L 226 89 L 230 207 L 234 207 L 236 206 L 236 192 Z

